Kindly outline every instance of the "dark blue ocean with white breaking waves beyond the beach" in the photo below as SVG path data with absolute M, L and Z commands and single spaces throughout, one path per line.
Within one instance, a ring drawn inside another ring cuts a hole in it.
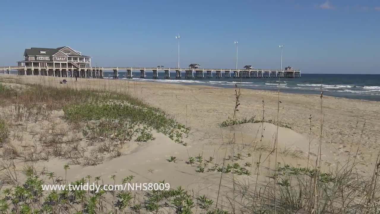
M 224 73 L 223 73 L 224 74 Z M 119 78 L 125 79 L 125 73 L 119 72 Z M 133 81 L 155 81 L 163 83 L 180 83 L 190 85 L 209 85 L 218 87 L 271 90 L 298 94 L 320 94 L 350 99 L 380 101 L 380 75 L 372 74 L 310 74 L 302 73 L 301 78 L 213 78 L 176 79 L 176 73 L 170 73 L 170 80 L 164 78 L 164 73 L 158 73 L 158 79 L 152 79 L 152 72 L 146 72 L 146 79 L 140 79 L 140 72 L 133 72 Z M 206 76 L 206 74 L 205 74 Z M 112 78 L 112 72 L 105 72 L 105 78 Z M 120 80 L 119 79 L 119 80 Z

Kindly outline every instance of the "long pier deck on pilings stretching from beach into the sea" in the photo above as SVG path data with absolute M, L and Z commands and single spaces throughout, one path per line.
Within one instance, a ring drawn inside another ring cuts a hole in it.
M 4 73 L 17 70 L 18 75 L 44 75 L 54 77 L 103 78 L 105 70 L 113 71 L 113 78 L 119 78 L 119 72 L 124 70 L 126 78 L 133 78 L 132 71 L 139 70 L 140 78 L 146 78 L 146 71 L 152 70 L 152 78 L 158 78 L 158 71 L 164 71 L 165 79 L 170 79 L 170 71 L 176 71 L 177 79 L 182 78 L 300 78 L 301 70 L 270 70 L 270 69 L 190 69 L 162 67 L 36 67 L 8 66 L 0 67 Z

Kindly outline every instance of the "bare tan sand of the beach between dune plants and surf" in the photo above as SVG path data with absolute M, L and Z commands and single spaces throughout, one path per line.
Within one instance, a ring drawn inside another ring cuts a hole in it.
M 165 179 L 173 187 L 180 185 L 195 191 L 197 195 L 208 195 L 215 201 L 220 173 L 196 172 L 194 166 L 186 163 L 189 157 L 202 154 L 205 159 L 214 157 L 215 163 L 221 163 L 225 153 L 227 156 L 231 152 L 241 153 L 242 158 L 237 162 L 240 164 L 247 161 L 260 162 L 260 167 L 257 169 L 260 171 L 258 180 L 265 181 L 272 174 L 269 169 L 274 168 L 275 164 L 275 152 L 272 148 L 276 136 L 278 137 L 277 162 L 281 166 L 289 164 L 306 167 L 308 153 L 309 164 L 315 164 L 322 134 L 321 166 L 326 172 L 341 168 L 349 157 L 352 161 L 359 147 L 355 158 L 359 164 L 357 169 L 363 175 L 371 175 L 380 149 L 378 145 L 380 107 L 376 101 L 323 96 L 321 105 L 320 95 L 289 94 L 281 91 L 278 94 L 273 91 L 240 89 L 237 118 L 255 117 L 261 120 L 264 114 L 264 121 L 280 121 L 291 129 L 285 127 L 277 129 L 272 123 L 243 123 L 233 127 L 220 127 L 222 121 L 233 117 L 236 99 L 234 88 L 82 78 L 78 78 L 78 82 L 75 82 L 74 78 L 66 78 L 67 84 L 59 84 L 59 78 L 44 76 L 1 75 L 0 78 L 2 84 L 13 87 L 17 87 L 19 83 L 36 83 L 58 88 L 128 93 L 165 110 L 179 123 L 191 128 L 188 138 L 184 139 L 186 147 L 176 144 L 162 133 L 153 131 L 155 140 L 137 146 L 131 142 L 128 147 L 123 148 L 124 155 L 121 157 L 106 159 L 96 166 L 70 166 L 70 173 L 67 175 L 70 180 L 80 179 L 89 174 L 101 175 L 105 182 L 112 182 L 109 177 L 112 174 L 116 174 L 119 178 L 133 175 L 136 176 L 136 180 L 144 182 L 158 182 Z M 7 78 L 16 79 L 18 83 L 12 80 L 4 81 Z M 60 118 L 63 111 L 56 111 L 55 115 L 57 128 L 69 127 L 67 122 Z M 261 131 L 263 131 L 262 139 Z M 28 135 L 30 134 L 25 132 L 25 139 L 30 142 L 25 140 L 23 143 L 32 145 L 37 138 Z M 228 143 L 229 141 L 234 143 Z M 261 149 L 257 149 L 258 147 Z M 248 153 L 250 155 L 247 155 Z M 168 162 L 171 156 L 175 156 L 178 161 Z M 47 171 L 54 169 L 58 175 L 64 175 L 62 166 L 66 163 L 65 160 L 55 158 L 38 161 L 35 164 L 38 167 L 45 167 Z M 241 182 L 251 180 L 253 183 L 256 180 L 256 176 L 253 176 L 256 166 L 251 166 L 250 170 L 252 176 L 232 178 L 231 174 L 226 174 L 223 177 L 222 204 L 226 208 L 230 206 L 228 198 L 231 197 L 231 188 L 233 188 L 231 179 Z

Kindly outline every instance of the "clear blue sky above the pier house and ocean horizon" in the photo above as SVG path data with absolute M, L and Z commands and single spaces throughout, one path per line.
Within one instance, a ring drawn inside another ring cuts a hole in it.
M 0 3 L 0 66 L 25 48 L 70 46 L 92 65 L 253 65 L 380 74 L 378 0 L 81 0 Z

